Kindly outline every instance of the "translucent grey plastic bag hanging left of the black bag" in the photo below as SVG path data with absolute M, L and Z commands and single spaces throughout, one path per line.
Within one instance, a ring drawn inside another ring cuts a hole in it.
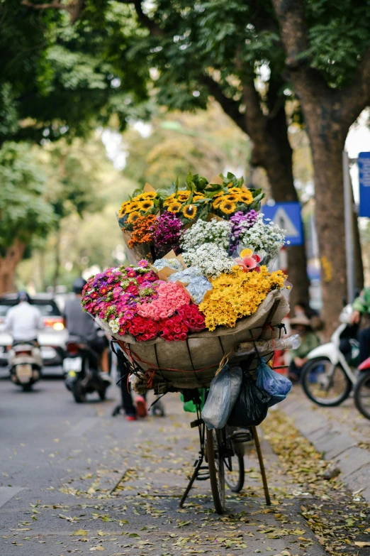
M 223 366 L 211 382 L 208 398 L 202 411 L 202 419 L 208 429 L 225 427 L 242 385 L 242 369 Z

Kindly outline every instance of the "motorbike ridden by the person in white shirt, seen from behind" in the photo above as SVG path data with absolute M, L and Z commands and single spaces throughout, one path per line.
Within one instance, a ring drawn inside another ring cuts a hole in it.
M 13 342 L 9 351 L 11 381 L 28 392 L 41 376 L 43 362 L 35 342 Z

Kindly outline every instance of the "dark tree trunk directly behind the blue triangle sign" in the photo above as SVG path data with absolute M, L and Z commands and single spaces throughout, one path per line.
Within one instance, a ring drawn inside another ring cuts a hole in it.
M 267 172 L 271 195 L 276 202 L 298 201 L 296 187 L 293 180 L 293 151 L 288 140 L 288 129 L 284 107 L 277 112 L 274 118 L 268 119 L 266 136 L 253 143 L 252 165 L 261 165 Z M 253 137 L 252 137 L 253 141 Z M 296 302 L 308 304 L 307 257 L 305 244 L 299 246 L 286 246 L 288 255 L 288 276 L 293 284 L 289 303 L 291 312 Z

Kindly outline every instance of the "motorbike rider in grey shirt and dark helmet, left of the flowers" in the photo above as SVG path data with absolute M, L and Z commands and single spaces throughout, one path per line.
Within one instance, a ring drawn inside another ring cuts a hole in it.
M 74 297 L 67 300 L 63 319 L 69 336 L 77 336 L 82 342 L 93 349 L 96 354 L 101 356 L 104 349 L 108 346 L 108 341 L 90 315 L 82 310 L 81 298 L 82 290 L 86 280 L 84 278 L 76 278 L 73 283 Z M 108 370 L 108 369 L 103 369 Z

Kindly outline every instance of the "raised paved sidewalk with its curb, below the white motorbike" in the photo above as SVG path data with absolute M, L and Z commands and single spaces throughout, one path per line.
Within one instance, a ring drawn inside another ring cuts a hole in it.
M 354 407 L 352 397 L 336 408 L 320 408 L 300 386 L 279 405 L 298 430 L 340 469 L 340 479 L 370 502 L 370 421 Z

